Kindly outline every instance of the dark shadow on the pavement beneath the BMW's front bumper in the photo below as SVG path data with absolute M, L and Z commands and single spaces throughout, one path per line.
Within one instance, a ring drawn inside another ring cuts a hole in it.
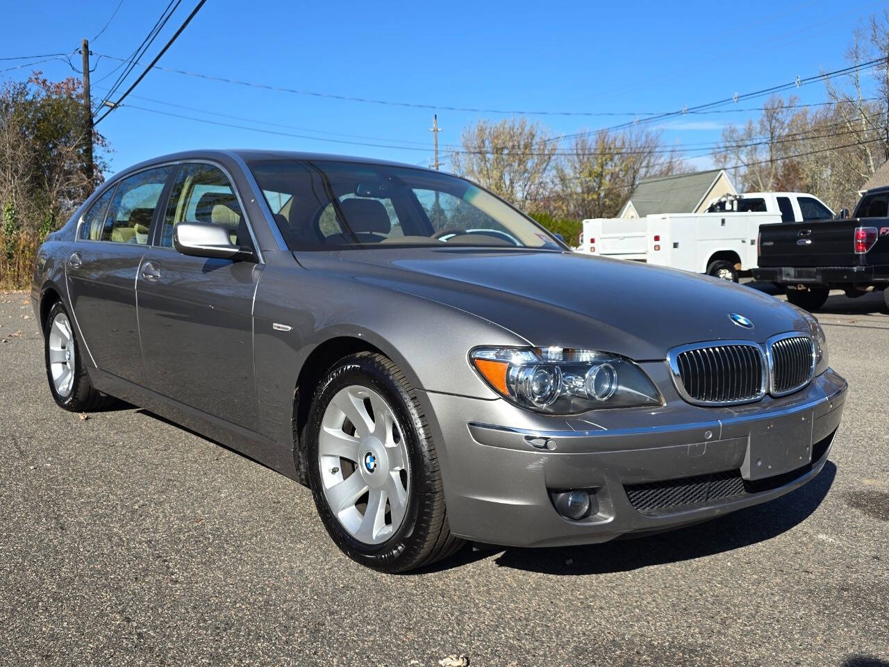
M 669 532 L 601 544 L 507 549 L 495 562 L 501 567 L 548 575 L 602 575 L 740 549 L 771 539 L 802 523 L 824 500 L 836 476 L 837 466 L 827 462 L 821 474 L 805 486 L 771 502 L 738 510 L 725 517 Z M 484 557 L 485 554 L 479 556 Z M 461 554 L 455 559 L 467 559 L 467 555 Z M 449 559 L 441 565 L 451 564 L 452 559 Z M 458 562 L 454 560 L 453 565 Z

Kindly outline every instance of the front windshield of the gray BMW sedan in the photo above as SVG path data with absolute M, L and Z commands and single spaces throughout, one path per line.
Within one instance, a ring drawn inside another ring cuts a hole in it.
M 563 250 L 469 181 L 409 167 L 318 160 L 250 164 L 291 250 L 494 245 Z

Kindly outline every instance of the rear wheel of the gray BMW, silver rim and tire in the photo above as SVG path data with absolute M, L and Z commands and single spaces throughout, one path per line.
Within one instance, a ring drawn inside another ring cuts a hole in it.
M 100 410 L 114 402 L 114 398 L 93 388 L 74 325 L 61 301 L 52 305 L 44 322 L 44 359 L 52 398 L 60 407 L 82 413 Z

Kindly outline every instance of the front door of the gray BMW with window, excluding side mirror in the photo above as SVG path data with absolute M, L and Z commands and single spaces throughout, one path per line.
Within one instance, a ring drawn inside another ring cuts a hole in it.
M 172 231 L 181 221 L 222 225 L 233 241 L 256 250 L 226 174 L 215 165 L 182 165 L 136 281 L 144 384 L 255 430 L 252 309 L 262 265 L 178 253 Z

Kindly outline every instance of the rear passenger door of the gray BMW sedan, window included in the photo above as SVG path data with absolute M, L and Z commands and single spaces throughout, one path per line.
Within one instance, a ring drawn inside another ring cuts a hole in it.
M 84 215 L 68 258 L 68 298 L 86 347 L 101 370 L 140 382 L 136 269 L 172 167 L 135 173 Z

